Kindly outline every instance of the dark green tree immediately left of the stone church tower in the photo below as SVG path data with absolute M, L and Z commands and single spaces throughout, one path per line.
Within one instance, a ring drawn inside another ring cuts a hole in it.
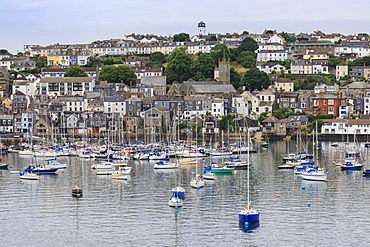
M 204 81 L 206 79 L 213 79 L 215 67 L 216 64 L 212 57 L 207 53 L 201 53 L 194 63 L 196 80 Z

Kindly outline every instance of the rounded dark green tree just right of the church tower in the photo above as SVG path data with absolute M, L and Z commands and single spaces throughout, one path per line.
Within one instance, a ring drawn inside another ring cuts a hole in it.
M 257 68 L 248 70 L 244 74 L 242 82 L 249 91 L 267 89 L 271 85 L 269 76 Z

